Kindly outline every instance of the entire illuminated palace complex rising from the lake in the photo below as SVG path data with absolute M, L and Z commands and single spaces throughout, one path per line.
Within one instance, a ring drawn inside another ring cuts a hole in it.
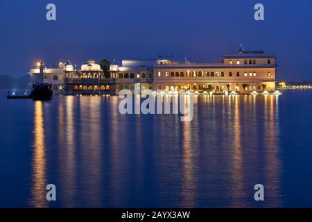
M 55 93 L 115 94 L 121 89 L 140 93 L 144 89 L 223 94 L 236 92 L 273 92 L 276 80 L 276 58 L 263 51 L 226 53 L 220 63 L 189 62 L 187 58 L 159 56 L 156 59 L 122 60 L 110 66 L 105 78 L 100 65 L 88 60 L 81 69 L 70 62 L 59 63 L 56 69 L 44 68 L 44 82 L 53 85 Z M 31 79 L 39 78 L 40 70 L 31 69 Z

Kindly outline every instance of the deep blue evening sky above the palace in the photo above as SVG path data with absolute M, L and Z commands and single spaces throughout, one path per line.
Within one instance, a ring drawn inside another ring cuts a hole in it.
M 55 3 L 57 21 L 46 20 Z M 263 3 L 265 21 L 254 20 Z M 0 0 L 0 74 L 21 76 L 37 60 L 155 58 L 187 55 L 220 62 L 225 52 L 276 53 L 278 80 L 312 80 L 312 1 Z

